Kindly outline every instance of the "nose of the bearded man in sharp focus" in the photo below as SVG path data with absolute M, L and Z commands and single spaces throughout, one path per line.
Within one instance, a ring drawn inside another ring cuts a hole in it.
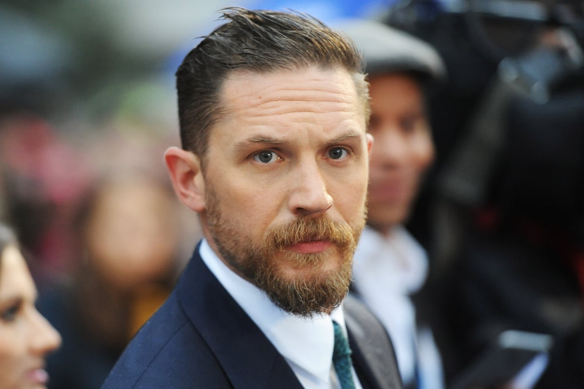
M 333 198 L 326 189 L 324 172 L 318 161 L 299 162 L 290 182 L 288 208 L 291 213 L 301 216 L 324 213 L 332 207 Z

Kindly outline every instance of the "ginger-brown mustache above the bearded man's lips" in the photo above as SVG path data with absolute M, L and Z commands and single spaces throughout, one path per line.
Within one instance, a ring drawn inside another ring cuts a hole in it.
M 349 224 L 333 221 L 326 215 L 300 216 L 288 224 L 273 227 L 267 236 L 269 245 L 280 251 L 287 246 L 315 241 L 329 241 L 344 248 L 353 241 L 353 231 Z

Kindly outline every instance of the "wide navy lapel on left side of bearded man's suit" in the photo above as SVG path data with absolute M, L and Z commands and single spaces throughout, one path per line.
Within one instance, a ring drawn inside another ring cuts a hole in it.
M 286 360 L 204 264 L 199 246 L 177 290 L 187 317 L 234 388 L 302 388 Z

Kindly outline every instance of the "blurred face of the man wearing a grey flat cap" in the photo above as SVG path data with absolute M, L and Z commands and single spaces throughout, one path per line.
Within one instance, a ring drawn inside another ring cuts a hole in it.
M 404 74 L 378 75 L 369 82 L 369 133 L 375 147 L 370 159 L 367 223 L 387 232 L 408 217 L 434 148 L 418 84 Z

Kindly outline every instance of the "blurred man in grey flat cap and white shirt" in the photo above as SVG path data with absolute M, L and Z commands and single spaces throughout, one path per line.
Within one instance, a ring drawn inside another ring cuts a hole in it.
M 416 319 L 412 295 L 423 286 L 426 252 L 404 228 L 434 157 L 426 88 L 445 77 L 432 47 L 371 20 L 339 26 L 363 51 L 375 139 L 370 159 L 367 227 L 354 262 L 354 289 L 381 319 L 408 388 L 443 388 L 432 333 Z

